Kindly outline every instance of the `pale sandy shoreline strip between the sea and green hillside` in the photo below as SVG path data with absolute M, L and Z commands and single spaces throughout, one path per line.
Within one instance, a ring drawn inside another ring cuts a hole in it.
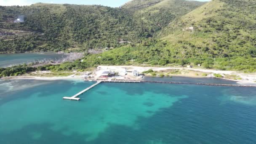
M 149 69 L 154 70 L 155 72 L 166 72 L 171 69 L 179 69 L 181 71 L 186 71 L 179 74 L 170 74 L 169 76 L 172 77 L 190 77 L 190 78 L 216 78 L 219 80 L 228 80 L 228 81 L 234 81 L 239 85 L 253 85 L 256 86 L 256 75 L 255 74 L 245 74 L 245 73 L 239 73 L 235 71 L 221 71 L 221 70 L 211 70 L 211 69 L 195 69 L 195 68 L 176 68 L 176 67 L 135 67 L 135 66 L 99 66 L 96 70 L 91 72 L 91 76 L 93 78 L 89 78 L 88 80 L 96 80 L 100 77 L 101 73 L 103 71 L 114 71 L 118 72 L 118 70 L 127 69 L 128 71 L 132 70 L 138 70 L 139 72 L 147 71 Z M 190 73 L 189 73 L 190 72 Z M 202 75 L 195 75 L 197 72 L 206 72 L 207 76 Z M 128 72 L 129 73 L 129 72 Z M 222 74 L 222 75 L 237 75 L 238 77 L 241 77 L 242 80 L 237 79 L 228 79 L 225 77 L 214 77 L 213 74 Z M 158 76 L 152 76 L 150 74 L 145 74 L 145 76 L 149 77 L 158 77 Z M 143 80 L 142 77 L 133 77 L 131 73 L 129 75 L 120 75 L 120 77 L 109 77 L 108 79 L 125 79 L 125 77 L 129 78 L 129 80 Z M 62 77 L 40 77 L 40 76 L 17 76 L 17 77 L 2 77 L 0 80 L 16 80 L 16 79 L 30 79 L 30 80 L 84 80 L 85 77 L 83 75 L 69 75 L 69 76 L 62 76 Z

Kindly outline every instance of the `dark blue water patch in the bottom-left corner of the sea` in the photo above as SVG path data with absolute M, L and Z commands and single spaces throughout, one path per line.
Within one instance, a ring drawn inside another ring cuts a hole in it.
M 1 144 L 85 144 L 86 135 L 72 133 L 64 135 L 61 131 L 53 131 L 51 123 L 27 125 L 18 131 L 0 133 Z

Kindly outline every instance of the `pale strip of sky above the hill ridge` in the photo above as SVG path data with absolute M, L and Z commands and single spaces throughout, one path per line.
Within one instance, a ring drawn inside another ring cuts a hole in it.
M 130 0 L 0 0 L 0 5 L 31 5 L 33 3 L 69 3 L 78 5 L 105 5 L 110 7 L 119 7 Z M 209 0 L 197 0 L 209 1 Z

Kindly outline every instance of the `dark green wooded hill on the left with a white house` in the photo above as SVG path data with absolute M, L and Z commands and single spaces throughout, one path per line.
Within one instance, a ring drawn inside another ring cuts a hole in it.
M 6 13 L 0 28 L 45 34 L 40 37 L 2 40 L 1 51 L 116 47 L 119 39 L 137 40 L 145 31 L 133 23 L 132 13 L 129 11 L 99 5 L 37 3 L 24 7 L 1 7 L 1 11 Z M 25 22 L 13 23 L 20 14 L 26 16 Z

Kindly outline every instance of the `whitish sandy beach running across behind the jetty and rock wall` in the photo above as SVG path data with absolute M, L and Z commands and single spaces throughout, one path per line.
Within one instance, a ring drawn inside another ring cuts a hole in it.
M 134 77 L 131 72 L 137 70 L 140 73 L 152 69 L 155 72 L 168 72 L 170 70 L 179 70 L 180 73 L 171 74 L 172 76 L 182 76 L 182 77 L 215 77 L 213 74 L 219 74 L 223 77 L 221 79 L 233 80 L 241 85 L 255 85 L 256 84 L 256 74 L 255 73 L 242 73 L 235 71 L 223 71 L 223 70 L 214 70 L 214 69 L 197 69 L 197 68 L 182 68 L 182 67 L 136 67 L 136 66 L 99 66 L 97 69 L 94 69 L 88 75 L 90 80 L 96 80 L 105 71 L 118 72 L 120 77 L 118 79 L 131 79 L 131 80 L 140 80 L 141 77 Z M 128 71 L 128 75 L 125 75 L 125 71 Z M 130 73 L 129 73 L 130 72 Z M 38 72 L 44 73 L 44 72 Z M 45 72 L 49 73 L 49 71 Z M 78 72 L 79 73 L 79 72 Z M 207 76 L 202 76 L 198 74 L 206 73 Z M 79 73 L 81 74 L 81 72 Z M 196 74 L 196 75 L 195 75 Z M 228 75 L 239 77 L 239 79 L 231 79 Z M 150 75 L 147 75 L 150 76 Z M 18 76 L 18 77 L 3 77 L 3 80 L 6 79 L 33 79 L 33 80 L 83 80 L 85 75 L 69 75 L 69 76 L 60 76 L 60 77 L 40 77 L 40 76 Z

